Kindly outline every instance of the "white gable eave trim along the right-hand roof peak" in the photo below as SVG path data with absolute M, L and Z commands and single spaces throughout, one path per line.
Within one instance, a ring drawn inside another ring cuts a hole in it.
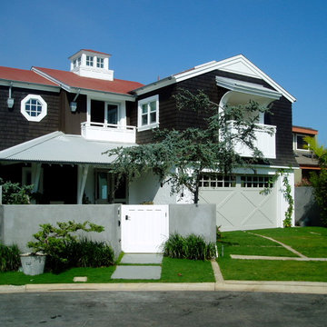
M 138 95 L 145 94 L 163 86 L 182 82 L 189 78 L 212 72 L 213 70 L 221 70 L 233 74 L 242 74 L 244 76 L 262 79 L 267 84 L 270 84 L 273 89 L 277 91 L 277 93 L 282 94 L 290 102 L 293 103 L 296 101 L 295 97 L 293 97 L 292 94 L 289 94 L 284 88 L 282 88 L 280 84 L 277 84 L 272 80 L 271 77 L 269 77 L 267 74 L 264 74 L 262 70 L 260 70 L 249 59 L 243 56 L 243 54 L 238 54 L 218 62 L 212 61 L 206 64 L 197 65 L 193 69 L 187 70 L 183 73 L 173 74 L 172 76 L 163 78 L 160 81 L 144 85 L 143 87 L 135 89 L 134 93 Z

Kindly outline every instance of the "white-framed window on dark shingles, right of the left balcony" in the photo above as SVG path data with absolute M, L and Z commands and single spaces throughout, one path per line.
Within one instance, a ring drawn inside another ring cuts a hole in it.
M 138 130 L 159 126 L 159 95 L 150 96 L 138 102 Z

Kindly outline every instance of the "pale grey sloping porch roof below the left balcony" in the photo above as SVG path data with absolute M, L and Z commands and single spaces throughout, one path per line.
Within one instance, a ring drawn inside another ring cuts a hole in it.
M 0 151 L 0 161 L 109 164 L 115 156 L 103 154 L 105 151 L 134 145 L 86 140 L 81 135 L 54 132 Z

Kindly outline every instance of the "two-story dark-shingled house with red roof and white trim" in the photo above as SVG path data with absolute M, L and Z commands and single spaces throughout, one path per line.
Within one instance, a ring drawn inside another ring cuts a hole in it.
M 201 89 L 222 108 L 255 100 L 272 104 L 272 114 L 260 115 L 256 132 L 266 160 L 231 176 L 203 173 L 200 201 L 217 204 L 224 230 L 282 226 L 287 203 L 281 178 L 272 183 L 272 176 L 297 165 L 291 94 L 242 54 L 146 85 L 114 78 L 110 56 L 83 49 L 69 57 L 70 71 L 0 67 L 0 177 L 33 183 L 38 203 L 188 203 L 187 194 L 171 195 L 150 174 L 116 187 L 114 158 L 103 153 L 152 142 L 154 128 L 197 126 L 193 112 L 176 109 L 173 94 Z M 272 192 L 260 193 L 265 187 Z

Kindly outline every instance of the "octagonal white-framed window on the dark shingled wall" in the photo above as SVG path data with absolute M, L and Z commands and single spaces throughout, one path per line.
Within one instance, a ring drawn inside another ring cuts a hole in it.
M 47 104 L 42 96 L 28 94 L 21 101 L 21 113 L 28 121 L 40 122 L 47 114 Z

